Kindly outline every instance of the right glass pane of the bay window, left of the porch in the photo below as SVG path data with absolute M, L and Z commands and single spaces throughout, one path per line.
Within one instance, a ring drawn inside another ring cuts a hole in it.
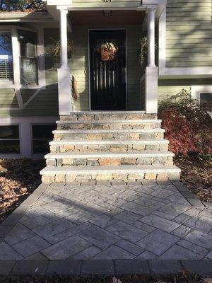
M 35 85 L 37 76 L 37 34 L 28 30 L 18 30 L 20 47 L 20 83 Z

